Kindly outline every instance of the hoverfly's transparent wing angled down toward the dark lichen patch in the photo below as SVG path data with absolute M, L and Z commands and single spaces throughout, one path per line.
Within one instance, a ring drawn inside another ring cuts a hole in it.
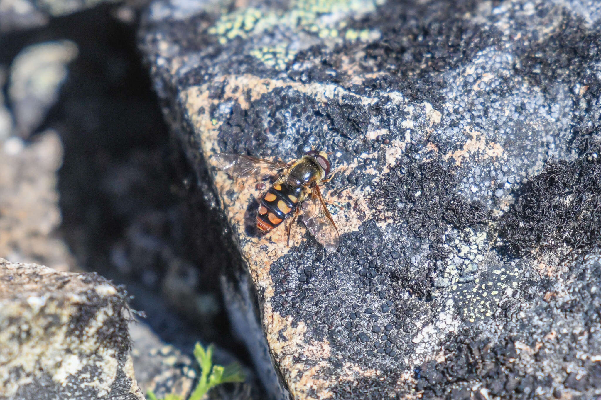
M 307 230 L 317 239 L 318 242 L 329 251 L 336 251 L 340 244 L 340 235 L 334 224 L 332 215 L 328 211 L 325 201 L 323 201 L 322 192 L 319 187 L 311 191 L 310 199 L 302 203 L 303 222 Z

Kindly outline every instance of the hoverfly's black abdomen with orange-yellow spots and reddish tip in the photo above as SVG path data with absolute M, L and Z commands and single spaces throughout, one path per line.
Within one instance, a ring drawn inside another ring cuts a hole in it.
M 293 187 L 286 182 L 273 185 L 259 204 L 257 228 L 270 231 L 287 218 L 298 205 L 302 187 Z

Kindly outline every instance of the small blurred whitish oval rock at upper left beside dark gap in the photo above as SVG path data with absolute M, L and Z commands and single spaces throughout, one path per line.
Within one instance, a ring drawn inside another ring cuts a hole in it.
M 63 40 L 28 46 L 14 58 L 8 94 L 16 130 L 24 139 L 34 133 L 56 103 L 61 84 L 67 77 L 67 64 L 77 54 L 77 45 Z

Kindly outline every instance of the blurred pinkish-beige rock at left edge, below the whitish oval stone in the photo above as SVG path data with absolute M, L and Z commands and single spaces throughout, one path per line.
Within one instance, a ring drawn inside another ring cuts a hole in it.
M 69 270 L 75 262 L 56 231 L 61 224 L 56 172 L 63 146 L 55 131 L 26 145 L 0 142 L 0 257 Z

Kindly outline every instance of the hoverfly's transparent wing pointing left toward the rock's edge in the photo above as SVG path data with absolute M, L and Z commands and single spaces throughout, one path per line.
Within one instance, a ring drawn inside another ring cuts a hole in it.
M 257 179 L 265 179 L 277 170 L 290 167 L 290 164 L 281 161 L 263 160 L 263 158 L 234 153 L 218 153 L 213 155 L 213 160 L 219 169 L 236 176 L 236 178 L 252 176 Z

